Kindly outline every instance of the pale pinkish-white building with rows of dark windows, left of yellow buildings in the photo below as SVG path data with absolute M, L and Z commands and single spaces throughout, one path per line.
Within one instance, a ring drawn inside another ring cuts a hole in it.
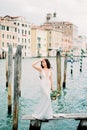
M 31 25 L 24 17 L 12 19 L 17 26 L 18 44 L 22 45 L 22 57 L 31 57 Z

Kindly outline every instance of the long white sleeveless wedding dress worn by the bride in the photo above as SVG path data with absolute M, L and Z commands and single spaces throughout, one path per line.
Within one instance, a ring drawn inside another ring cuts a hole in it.
M 41 97 L 40 102 L 35 109 L 35 112 L 32 114 L 36 119 L 51 119 L 53 117 L 50 91 L 51 84 L 49 80 L 50 69 L 46 74 L 45 70 L 42 69 L 41 72 Z

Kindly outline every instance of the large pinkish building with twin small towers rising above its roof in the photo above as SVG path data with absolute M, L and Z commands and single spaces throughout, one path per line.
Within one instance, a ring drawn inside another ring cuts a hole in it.
M 56 13 L 53 15 L 48 13 L 46 16 L 46 22 L 42 25 L 43 27 L 50 27 L 52 30 L 59 31 L 62 33 L 61 38 L 61 49 L 63 51 L 70 51 L 71 48 L 78 41 L 78 27 L 70 22 L 58 21 L 56 18 Z M 51 43 L 54 44 L 54 43 Z M 57 48 L 60 48 L 57 46 Z M 56 48 L 56 49 L 57 49 Z

